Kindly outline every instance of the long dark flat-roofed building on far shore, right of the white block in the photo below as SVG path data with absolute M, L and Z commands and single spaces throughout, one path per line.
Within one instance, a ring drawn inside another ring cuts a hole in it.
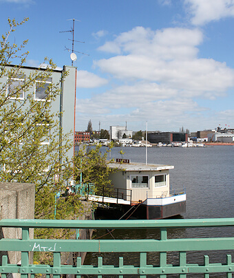
M 188 134 L 182 132 L 149 132 L 148 141 L 151 143 L 165 143 L 171 144 L 171 142 L 186 142 L 188 140 Z

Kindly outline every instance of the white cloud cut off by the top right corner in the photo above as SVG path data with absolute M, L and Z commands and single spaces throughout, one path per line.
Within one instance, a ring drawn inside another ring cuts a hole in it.
M 226 17 L 234 17 L 233 0 L 184 0 L 193 25 L 203 25 Z

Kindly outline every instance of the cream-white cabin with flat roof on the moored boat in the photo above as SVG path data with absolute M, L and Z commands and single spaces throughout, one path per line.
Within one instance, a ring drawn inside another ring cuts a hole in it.
M 169 197 L 169 170 L 174 169 L 171 165 L 113 162 L 108 167 L 118 168 L 109 178 L 114 188 L 118 188 L 120 193 L 123 191 L 123 199 L 131 200 L 131 204 Z

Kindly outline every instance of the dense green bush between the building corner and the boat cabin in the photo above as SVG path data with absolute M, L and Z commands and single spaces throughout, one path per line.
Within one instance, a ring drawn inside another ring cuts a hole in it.
M 95 184 L 96 191 L 103 189 L 103 186 L 111 186 L 111 180 L 109 174 L 113 173 L 115 169 L 108 167 L 107 156 L 113 147 L 112 143 L 105 153 L 101 153 L 102 146 L 100 144 L 95 145 L 87 149 L 85 153 L 84 149 L 78 151 L 74 158 L 74 177 L 76 181 L 81 180 L 83 184 Z

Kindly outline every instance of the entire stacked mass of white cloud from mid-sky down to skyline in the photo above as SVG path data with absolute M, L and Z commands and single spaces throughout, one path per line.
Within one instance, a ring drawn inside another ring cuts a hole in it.
M 127 120 L 135 130 L 146 120 L 153 130 L 162 131 L 182 125 L 215 127 L 221 114 L 208 108 L 209 101 L 202 107 L 195 99 L 226 96 L 234 86 L 234 69 L 212 58 L 199 58 L 202 43 L 198 28 L 136 27 L 107 41 L 99 50 L 111 53 L 111 58 L 94 65 L 115 83 L 101 94 L 79 100 L 78 118 L 93 116 L 105 128 Z

